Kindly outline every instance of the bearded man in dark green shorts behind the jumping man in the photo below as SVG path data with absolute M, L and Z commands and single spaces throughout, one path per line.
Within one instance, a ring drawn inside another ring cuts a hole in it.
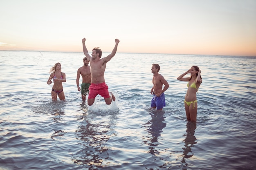
M 86 95 L 89 93 L 89 86 L 91 84 L 92 75 L 90 72 L 89 61 L 86 57 L 83 58 L 83 66 L 78 68 L 76 75 L 77 90 L 81 91 L 82 99 L 85 101 Z M 79 87 L 80 75 L 83 78 L 81 88 Z

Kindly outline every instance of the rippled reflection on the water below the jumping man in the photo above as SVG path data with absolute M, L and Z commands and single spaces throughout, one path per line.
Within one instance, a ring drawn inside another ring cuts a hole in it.
M 81 105 L 83 107 L 83 104 Z M 110 137 L 116 135 L 113 126 L 115 126 L 115 110 L 98 110 L 90 112 L 83 107 L 86 112 L 83 115 L 83 121 L 75 132 L 76 139 L 83 146 L 82 150 L 76 152 L 72 161 L 77 164 L 89 166 L 92 170 L 102 168 L 109 162 L 108 145 L 106 144 Z M 81 117 L 80 117 L 81 118 Z M 104 163 L 104 161 L 107 161 Z

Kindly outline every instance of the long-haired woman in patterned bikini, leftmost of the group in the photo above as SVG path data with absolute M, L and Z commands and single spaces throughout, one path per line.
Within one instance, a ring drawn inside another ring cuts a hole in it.
M 54 72 L 52 72 L 54 71 Z M 57 62 L 49 71 L 50 77 L 47 81 L 47 84 L 52 84 L 53 79 L 53 86 L 52 86 L 52 100 L 57 100 L 58 98 L 61 100 L 65 100 L 65 95 L 63 92 L 62 82 L 66 82 L 66 74 L 61 72 L 61 63 Z

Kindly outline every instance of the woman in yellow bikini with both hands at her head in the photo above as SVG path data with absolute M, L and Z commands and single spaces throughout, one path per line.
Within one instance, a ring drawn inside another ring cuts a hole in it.
M 190 77 L 183 78 L 190 73 Z M 198 66 L 192 66 L 188 71 L 177 77 L 178 80 L 188 82 L 188 90 L 185 95 L 184 105 L 186 110 L 186 118 L 188 121 L 196 121 L 198 111 L 198 101 L 196 92 L 202 83 L 201 70 Z

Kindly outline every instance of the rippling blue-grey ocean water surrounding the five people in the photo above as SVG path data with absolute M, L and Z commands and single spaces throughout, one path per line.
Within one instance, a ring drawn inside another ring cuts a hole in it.
M 76 88 L 83 57 L 0 51 L 1 170 L 256 170 L 256 57 L 117 53 L 105 73 L 116 102 L 97 96 L 89 107 Z M 46 84 L 56 62 L 66 101 Z M 153 63 L 170 84 L 163 111 L 150 108 Z M 196 123 L 176 79 L 193 65 Z

